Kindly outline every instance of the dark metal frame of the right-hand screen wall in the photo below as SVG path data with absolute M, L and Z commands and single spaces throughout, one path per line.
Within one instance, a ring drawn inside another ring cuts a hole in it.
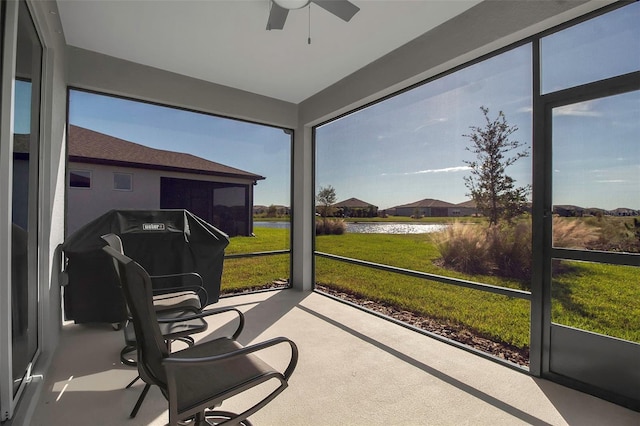
M 532 113 L 532 119 L 533 119 L 533 123 L 532 123 L 532 131 L 533 131 L 533 138 L 532 138 L 532 147 L 531 147 L 531 156 L 532 156 L 532 187 L 533 187 L 533 191 L 532 191 L 532 219 L 533 219 L 533 223 L 532 223 L 532 246 L 534 251 L 535 250 L 539 250 L 541 246 L 543 246 L 543 244 L 546 243 L 548 236 L 545 235 L 545 232 L 543 231 L 543 218 L 544 216 L 547 214 L 546 211 L 544 211 L 544 206 L 549 204 L 548 200 L 545 200 L 545 195 L 544 195 L 544 191 L 542 190 L 544 187 L 544 181 L 545 181 L 545 176 L 548 174 L 547 170 L 545 169 L 545 162 L 544 159 L 546 157 L 545 154 L 545 142 L 544 142 L 544 138 L 545 138 L 545 128 L 544 126 L 541 127 L 541 124 L 544 124 L 544 107 L 543 104 L 544 102 L 548 102 L 549 99 L 555 98 L 556 96 L 560 96 L 562 95 L 564 92 L 567 91 L 571 91 L 571 92 L 580 92 L 584 87 L 586 86 L 591 86 L 591 87 L 595 87 L 595 86 L 599 86 L 599 85 L 604 85 L 607 86 L 610 90 L 616 90 L 617 89 L 617 85 L 616 83 L 618 83 L 619 79 L 633 79 L 636 78 L 638 73 L 640 73 L 640 71 L 636 71 L 636 72 L 631 72 L 629 74 L 625 74 L 623 76 L 617 76 L 617 77 L 612 77 L 612 78 L 608 78 L 605 80 L 601 80 L 601 81 L 596 81 L 596 82 L 591 82 L 585 85 L 577 85 L 568 89 L 564 89 L 561 90 L 559 92 L 548 92 L 548 93 L 542 93 L 541 90 L 541 77 L 540 77 L 540 70 L 541 70 L 541 61 L 540 61 L 540 41 L 549 35 L 561 32 L 567 28 L 573 27 L 577 24 L 580 23 L 584 23 L 587 21 L 590 21 L 594 18 L 597 18 L 599 16 L 602 15 L 606 15 L 607 13 L 611 13 L 614 12 L 615 10 L 619 9 L 619 8 L 623 8 L 623 7 L 627 7 L 632 3 L 629 2 L 616 2 L 614 4 L 610 4 L 610 5 L 606 5 L 603 6 L 601 8 L 598 8 L 597 10 L 594 10 L 592 12 L 586 13 L 584 15 L 581 15 L 577 18 L 571 19 L 567 22 L 564 22 L 562 24 L 559 24 L 557 26 L 554 26 L 552 28 L 549 28 L 547 30 L 543 30 L 540 32 L 537 32 L 531 36 L 525 37 L 521 40 L 518 40 L 514 43 L 510 43 L 507 46 L 503 46 L 501 48 L 498 48 L 496 50 L 493 50 L 489 53 L 485 53 L 485 54 L 480 54 L 478 57 L 473 58 L 469 61 L 466 61 L 460 65 L 454 66 L 452 68 L 449 68 L 443 72 L 437 73 L 436 75 L 433 75 L 431 77 L 428 77 L 422 81 L 419 81 L 417 83 L 411 84 L 407 87 L 404 87 L 400 90 L 394 91 L 390 94 L 387 94 L 385 96 L 382 96 L 380 98 L 376 98 L 372 101 L 366 102 L 365 104 L 354 108 L 354 109 L 348 109 L 346 111 L 340 112 L 339 114 L 336 114 L 335 116 L 331 116 L 330 118 L 327 118 L 325 120 L 323 120 L 322 122 L 317 123 L 316 125 L 314 125 L 311 129 L 312 132 L 312 190 L 317 191 L 319 188 L 317 187 L 317 182 L 316 182 L 316 177 L 317 177 L 317 148 L 316 148 L 316 144 L 317 144 L 317 132 L 316 130 L 326 124 L 330 124 L 333 122 L 336 122 L 338 120 L 341 120 L 342 118 L 348 117 L 354 113 L 357 113 L 361 110 L 367 109 L 369 107 L 375 106 L 381 102 L 384 102 L 386 100 L 389 100 L 391 98 L 395 98 L 396 96 L 402 95 L 405 92 L 411 91 L 415 88 L 421 87 L 423 85 L 426 85 L 428 83 L 431 83 L 433 81 L 439 80 L 443 77 L 446 77 L 450 74 L 456 73 L 459 70 L 468 68 L 470 66 L 473 66 L 475 64 L 484 62 L 486 60 L 489 60 L 493 57 L 496 57 L 504 52 L 510 51 L 512 49 L 516 49 L 518 47 L 521 47 L 523 45 L 526 44 L 531 44 L 531 49 L 532 49 L 532 87 L 533 87 L 533 113 Z M 544 101 L 541 99 L 544 98 Z M 547 165 L 548 166 L 548 165 Z M 315 203 L 315 197 L 312 197 L 311 201 L 311 211 L 315 212 L 316 211 L 316 203 Z M 315 220 L 315 218 L 311 219 L 312 221 Z M 354 265 L 359 265 L 359 266 L 365 266 L 365 267 L 369 267 L 369 268 L 373 268 L 373 269 L 378 269 L 381 271 L 386 271 L 386 272 L 393 272 L 393 273 L 398 273 L 401 275 L 405 275 L 405 276 L 412 276 L 412 277 L 418 277 L 418 278 L 422 278 L 425 279 L 426 281 L 435 281 L 435 282 L 441 282 L 441 283 L 445 283 L 445 284 L 449 284 L 449 285 L 454 285 L 454 286 L 458 286 L 458 287 L 467 287 L 467 288 L 473 288 L 475 290 L 480 290 L 480 291 L 484 291 L 487 293 L 494 293 L 494 294 L 502 294 L 504 296 L 508 296 L 508 297 L 512 297 L 512 298 L 519 298 L 519 299 L 524 299 L 524 300 L 528 300 L 531 303 L 531 317 L 530 317 L 530 363 L 529 363 L 529 368 L 527 369 L 529 374 L 534 375 L 534 376 L 542 376 L 543 373 L 546 373 L 548 370 L 548 365 L 546 365 L 546 360 L 543 359 L 543 353 L 546 353 L 545 350 L 548 351 L 548 348 L 545 349 L 545 344 L 548 343 L 548 335 L 547 335 L 547 331 L 543 330 L 543 324 L 545 323 L 545 320 L 548 320 L 550 318 L 550 313 L 547 311 L 548 305 L 545 305 L 543 303 L 543 298 L 544 297 L 548 297 L 548 294 L 544 294 L 544 292 L 546 291 L 545 289 L 542 288 L 542 275 L 544 275 L 544 268 L 543 268 L 543 263 L 544 263 L 544 258 L 545 256 L 542 254 L 537 254 L 533 256 L 532 262 L 533 262 L 533 276 L 531 279 L 531 291 L 518 291 L 515 289 L 511 289 L 511 288 L 504 288 L 504 287 L 496 287 L 496 286 L 491 286 L 491 285 L 487 285 L 487 284 L 483 284 L 483 283 L 478 283 L 478 282 L 467 282 L 465 280 L 458 280 L 458 279 L 454 279 L 454 278 L 449 278 L 449 277 L 443 277 L 443 276 L 434 276 L 434 275 L 430 275 L 430 274 L 425 274 L 425 273 L 421 273 L 419 271 L 415 271 L 415 270 L 410 270 L 410 269 L 403 269 L 403 268 L 398 268 L 398 267 L 394 267 L 394 266 L 389 266 L 386 264 L 378 264 L 378 263 L 373 263 L 373 262 L 367 262 L 364 261 L 362 259 L 354 259 L 354 258 L 346 258 L 346 257 L 342 257 L 342 256 L 337 256 L 337 255 L 333 255 L 333 254 L 329 254 L 329 253 L 324 253 L 324 252 L 320 252 L 318 251 L 317 247 L 316 247 L 316 238 L 315 235 L 311 237 L 312 238 L 312 286 L 315 287 L 316 284 L 316 261 L 318 258 L 326 258 L 326 259 L 331 259 L 331 260 L 335 260 L 335 261 L 340 261 L 340 262 L 345 262 L 348 264 L 354 264 Z M 612 263 L 614 264 L 621 264 L 621 265 L 625 265 L 625 264 L 633 264 L 636 265 L 637 261 L 638 261 L 638 256 L 639 255 L 634 255 L 633 254 L 618 254 L 618 253 L 606 253 L 604 255 L 601 255 L 600 253 L 596 253 L 596 254 L 591 254 L 589 252 L 579 252 L 579 253 L 574 253 L 574 252 L 570 252 L 569 249 L 559 249 L 559 248 L 554 248 L 553 249 L 554 253 L 558 252 L 558 251 L 562 251 L 566 256 L 568 256 L 568 259 L 572 259 L 572 260 L 585 260 L 585 261 L 590 261 L 591 260 L 591 256 L 595 256 L 598 259 L 602 260 L 603 257 L 607 257 L 609 261 L 612 261 Z M 346 303 L 350 303 L 350 302 L 346 302 Z M 407 327 L 407 328 L 411 328 L 416 332 L 420 332 L 423 333 L 424 331 L 413 327 L 411 325 L 408 324 L 403 324 L 403 326 Z M 461 347 L 465 350 L 469 350 L 471 352 L 475 352 L 472 348 L 470 348 L 469 346 L 466 346 L 464 344 L 455 342 L 455 341 L 451 341 L 449 339 L 442 339 L 440 338 L 440 336 L 438 335 L 433 335 L 430 333 L 426 333 L 429 334 L 430 336 L 445 341 L 446 343 L 452 344 L 454 346 L 457 347 Z M 508 367 L 512 367 L 512 365 L 510 365 L 507 362 L 503 362 L 499 359 L 495 359 L 491 356 L 487 356 L 484 353 L 477 353 L 477 355 L 492 359 L 494 361 L 497 362 L 501 362 L 503 364 L 505 364 Z

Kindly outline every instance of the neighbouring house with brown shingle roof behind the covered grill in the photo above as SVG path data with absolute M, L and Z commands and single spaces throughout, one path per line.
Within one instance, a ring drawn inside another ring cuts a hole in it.
M 253 232 L 263 176 L 77 126 L 67 143 L 67 235 L 111 209 L 187 209 L 230 236 Z

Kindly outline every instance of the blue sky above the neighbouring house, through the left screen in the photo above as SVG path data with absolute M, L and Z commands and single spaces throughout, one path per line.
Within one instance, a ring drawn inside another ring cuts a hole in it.
M 77 90 L 69 122 L 256 173 L 266 179 L 254 187 L 255 204 L 290 204 L 291 137 L 282 129 Z

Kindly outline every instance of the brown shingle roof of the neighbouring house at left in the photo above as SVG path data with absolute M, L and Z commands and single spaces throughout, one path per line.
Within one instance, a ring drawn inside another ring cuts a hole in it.
M 262 180 L 256 175 L 182 152 L 165 151 L 129 142 L 78 126 L 69 126 L 69 161 Z

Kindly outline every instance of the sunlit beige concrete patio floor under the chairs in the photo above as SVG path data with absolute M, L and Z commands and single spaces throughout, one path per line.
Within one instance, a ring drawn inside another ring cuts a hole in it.
M 496 362 L 318 293 L 294 290 L 221 299 L 245 312 L 243 344 L 286 336 L 299 347 L 286 389 L 250 417 L 260 425 L 640 425 L 640 413 Z M 228 331 L 210 323 L 200 339 Z M 119 362 L 122 332 L 64 325 L 33 425 L 164 425 L 167 402 L 153 387 L 129 419 L 143 384 Z M 177 348 L 176 348 L 177 349 Z M 286 348 L 264 358 L 274 366 Z M 288 360 L 288 358 L 287 358 Z M 286 361 L 285 361 L 286 362 Z M 255 397 L 255 395 L 250 395 Z M 240 411 L 242 396 L 222 409 Z

